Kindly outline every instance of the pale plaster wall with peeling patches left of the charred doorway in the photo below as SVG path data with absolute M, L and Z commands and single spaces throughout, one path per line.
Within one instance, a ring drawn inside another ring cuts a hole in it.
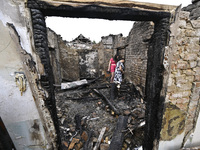
M 50 149 L 53 145 L 47 140 L 48 127 L 45 131 L 35 103 L 38 95 L 33 96 L 36 80 L 29 77 L 34 71 L 37 76 L 36 70 L 24 68 L 30 65 L 29 54 L 34 55 L 30 20 L 23 0 L 0 1 L 0 114 L 17 150 Z M 44 107 L 42 101 L 40 104 Z

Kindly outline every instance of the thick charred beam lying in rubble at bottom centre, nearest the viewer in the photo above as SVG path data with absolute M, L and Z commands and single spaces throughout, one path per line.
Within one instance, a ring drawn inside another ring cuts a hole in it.
M 127 129 L 128 116 L 119 116 L 117 127 L 113 133 L 113 137 L 108 150 L 121 150 L 124 141 L 124 132 Z

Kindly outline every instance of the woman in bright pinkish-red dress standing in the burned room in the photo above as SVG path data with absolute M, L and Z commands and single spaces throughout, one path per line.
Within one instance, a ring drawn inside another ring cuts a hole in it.
M 110 83 L 112 83 L 114 80 L 117 61 L 118 61 L 118 55 L 115 55 L 114 57 L 110 59 L 109 64 L 108 64 L 108 71 L 111 72 Z

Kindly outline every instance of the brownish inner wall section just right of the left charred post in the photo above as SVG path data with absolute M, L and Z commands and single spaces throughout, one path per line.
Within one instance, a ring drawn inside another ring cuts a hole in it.
M 79 56 L 75 47 L 69 46 L 60 35 L 48 29 L 48 44 L 56 84 L 80 79 Z

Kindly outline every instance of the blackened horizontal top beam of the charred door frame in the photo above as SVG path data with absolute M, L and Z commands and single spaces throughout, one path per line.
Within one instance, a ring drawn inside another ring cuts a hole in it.
M 42 10 L 45 16 L 60 16 L 60 17 L 86 17 L 86 18 L 101 18 L 109 20 L 132 20 L 132 21 L 154 21 L 161 18 L 170 17 L 170 13 L 164 10 L 154 8 L 139 9 L 137 7 L 110 6 L 87 3 L 84 5 L 73 3 L 47 3 L 46 1 L 29 0 L 28 7 Z M 130 4 L 129 4 L 130 5 Z M 127 5 L 127 6 L 129 6 Z

